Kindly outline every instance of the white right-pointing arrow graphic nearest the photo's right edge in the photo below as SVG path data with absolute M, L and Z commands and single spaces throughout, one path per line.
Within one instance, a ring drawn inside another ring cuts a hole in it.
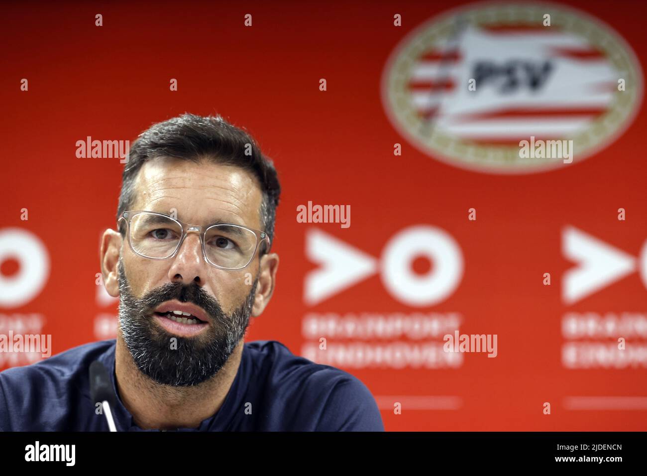
M 579 265 L 564 273 L 562 299 L 566 304 L 573 304 L 636 269 L 633 256 L 575 227 L 562 231 L 562 254 Z

